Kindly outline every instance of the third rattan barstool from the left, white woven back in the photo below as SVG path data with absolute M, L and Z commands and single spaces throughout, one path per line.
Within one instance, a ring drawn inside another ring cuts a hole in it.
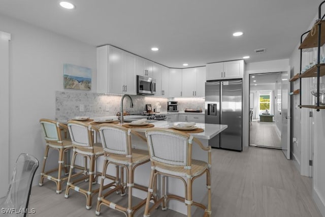
M 134 216 L 135 212 L 141 208 L 146 203 L 146 199 L 140 201 L 137 205 L 132 204 L 132 189 L 136 188 L 142 191 L 147 192 L 147 187 L 141 186 L 134 183 L 134 174 L 135 169 L 149 162 L 148 151 L 133 149 L 131 142 L 131 135 L 136 135 L 142 138 L 144 141 L 146 139 L 138 134 L 137 132 L 127 129 L 121 126 L 112 125 L 105 123 L 99 126 L 100 136 L 102 140 L 102 145 L 105 152 L 105 160 L 102 174 L 106 174 L 107 167 L 109 164 L 118 165 L 126 169 L 127 174 L 127 183 L 126 187 L 128 188 L 128 204 L 127 207 L 115 204 L 112 201 L 109 201 L 107 197 L 116 192 L 124 192 L 125 183 L 123 183 L 123 172 L 121 172 L 121 183 L 117 185 L 116 188 L 111 189 L 110 191 L 104 193 L 103 190 L 105 187 L 110 187 L 112 183 L 104 184 L 105 177 L 102 176 L 100 192 L 98 196 L 98 202 L 96 207 L 96 215 L 101 213 L 101 205 L 106 205 L 110 208 L 116 209 L 125 213 L 126 216 Z M 117 170 L 118 171 L 118 170 Z M 152 196 L 152 197 L 151 197 Z M 155 196 L 150 195 L 151 199 L 155 200 Z

